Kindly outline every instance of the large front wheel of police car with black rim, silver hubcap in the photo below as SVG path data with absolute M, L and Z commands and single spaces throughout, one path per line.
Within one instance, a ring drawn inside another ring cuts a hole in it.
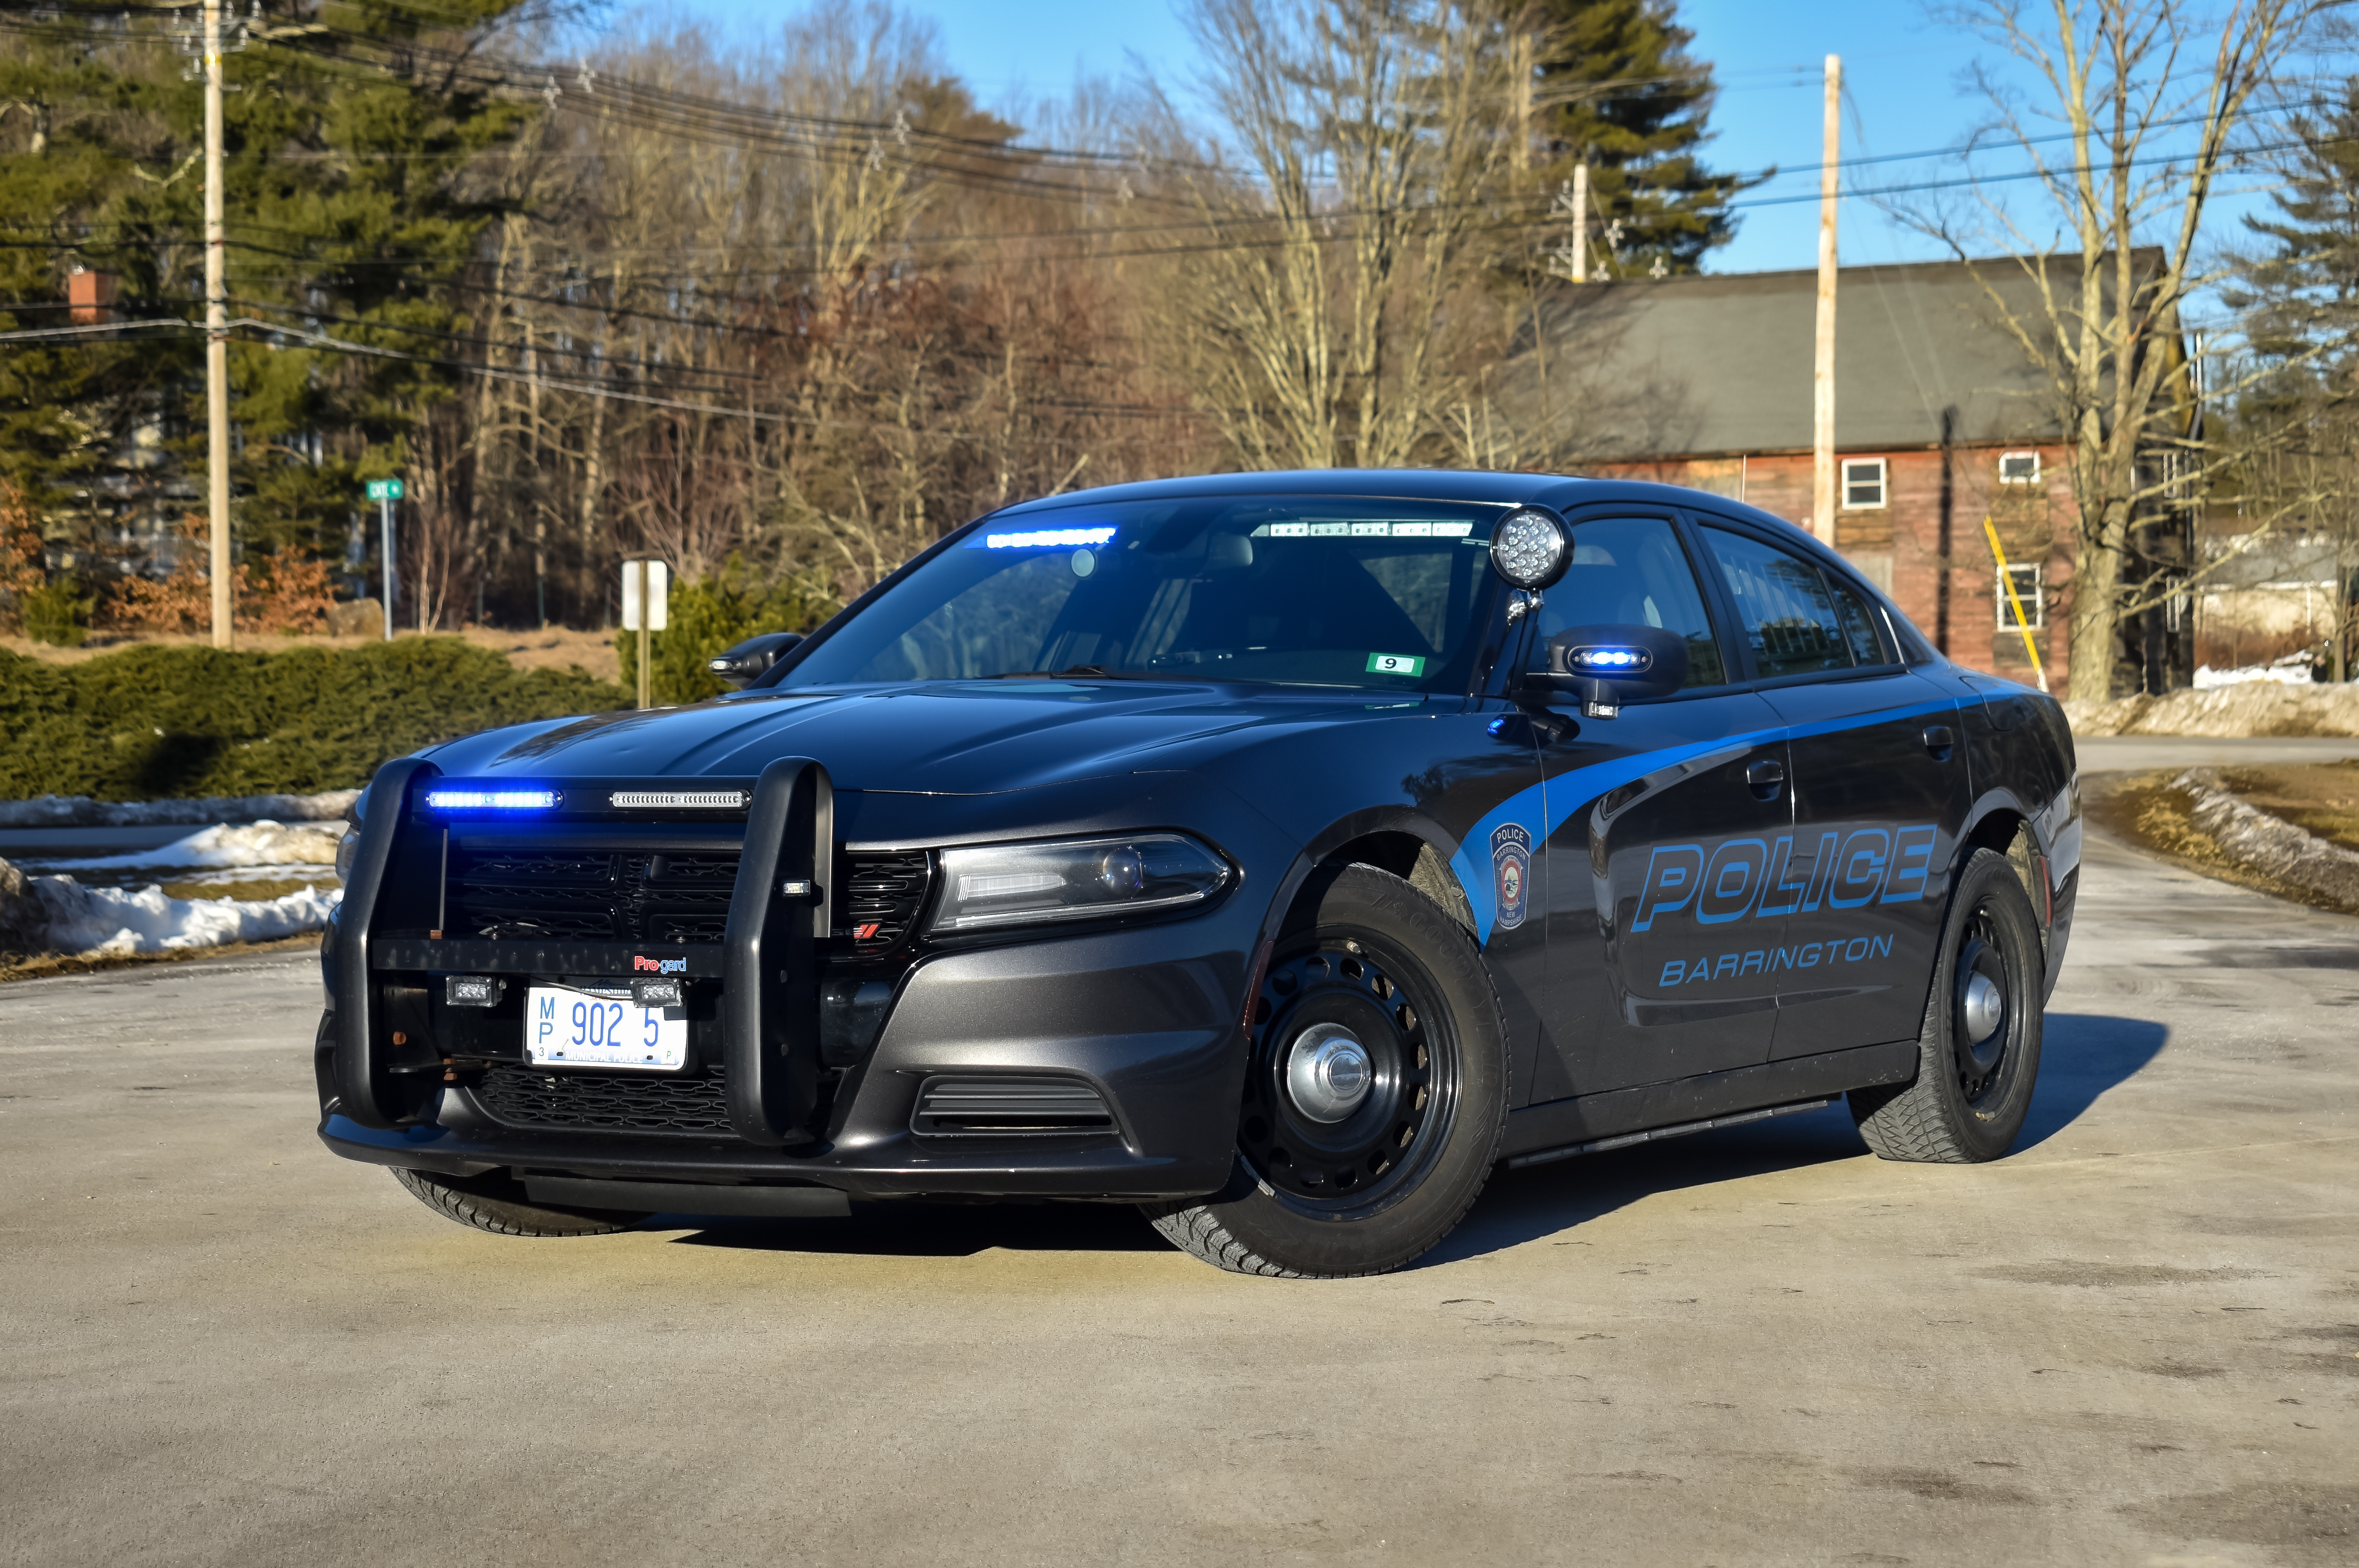
M 1342 1066 L 1321 1068 L 1321 1047 Z M 1213 1198 L 1142 1207 L 1234 1273 L 1387 1273 L 1481 1193 L 1507 1082 L 1498 995 L 1465 927 L 1394 875 L 1321 868 L 1255 997 L 1236 1174 Z

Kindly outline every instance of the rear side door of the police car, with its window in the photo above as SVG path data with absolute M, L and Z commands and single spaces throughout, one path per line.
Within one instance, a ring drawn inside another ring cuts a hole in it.
M 1786 913 L 1790 964 L 1769 1054 L 1908 1040 L 1970 804 L 1958 696 L 1901 665 L 1840 571 L 1717 521 L 1698 535 L 1788 726 L 1793 851 L 1765 908 Z

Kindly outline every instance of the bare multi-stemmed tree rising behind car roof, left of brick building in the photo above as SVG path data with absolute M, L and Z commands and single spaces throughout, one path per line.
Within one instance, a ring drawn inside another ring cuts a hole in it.
M 1486 0 L 1194 0 L 1241 165 L 1180 165 L 1205 243 L 1168 337 L 1250 467 L 1387 467 L 1458 396 L 1453 299 L 1507 170 L 1507 31 Z M 1187 144 L 1177 116 L 1165 137 Z

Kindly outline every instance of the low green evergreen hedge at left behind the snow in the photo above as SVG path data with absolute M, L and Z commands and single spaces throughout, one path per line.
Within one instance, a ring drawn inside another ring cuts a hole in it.
M 498 724 L 630 707 L 583 670 L 517 670 L 455 637 L 224 653 L 186 644 L 45 665 L 0 648 L 0 799 L 311 795 Z

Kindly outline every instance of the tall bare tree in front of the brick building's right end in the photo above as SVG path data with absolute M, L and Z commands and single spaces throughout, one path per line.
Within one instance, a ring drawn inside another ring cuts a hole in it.
M 2066 587 L 2069 696 L 2114 696 L 2121 630 L 2189 589 L 2192 559 L 2156 559 L 2147 519 L 2196 505 L 2239 462 L 2206 443 L 2182 307 L 2210 285 L 2199 245 L 2239 130 L 2328 0 L 1970 0 L 1937 17 L 2019 61 L 2036 94 L 1977 66 L 1993 120 L 1984 146 L 2036 172 L 2033 212 L 2003 186 L 1974 217 L 1916 215 L 1960 257 L 1996 233 L 2036 285 L 2038 307 L 1991 304 L 2045 373 L 2071 450 L 2076 526 Z M 1991 264 L 1986 264 L 1991 266 Z

